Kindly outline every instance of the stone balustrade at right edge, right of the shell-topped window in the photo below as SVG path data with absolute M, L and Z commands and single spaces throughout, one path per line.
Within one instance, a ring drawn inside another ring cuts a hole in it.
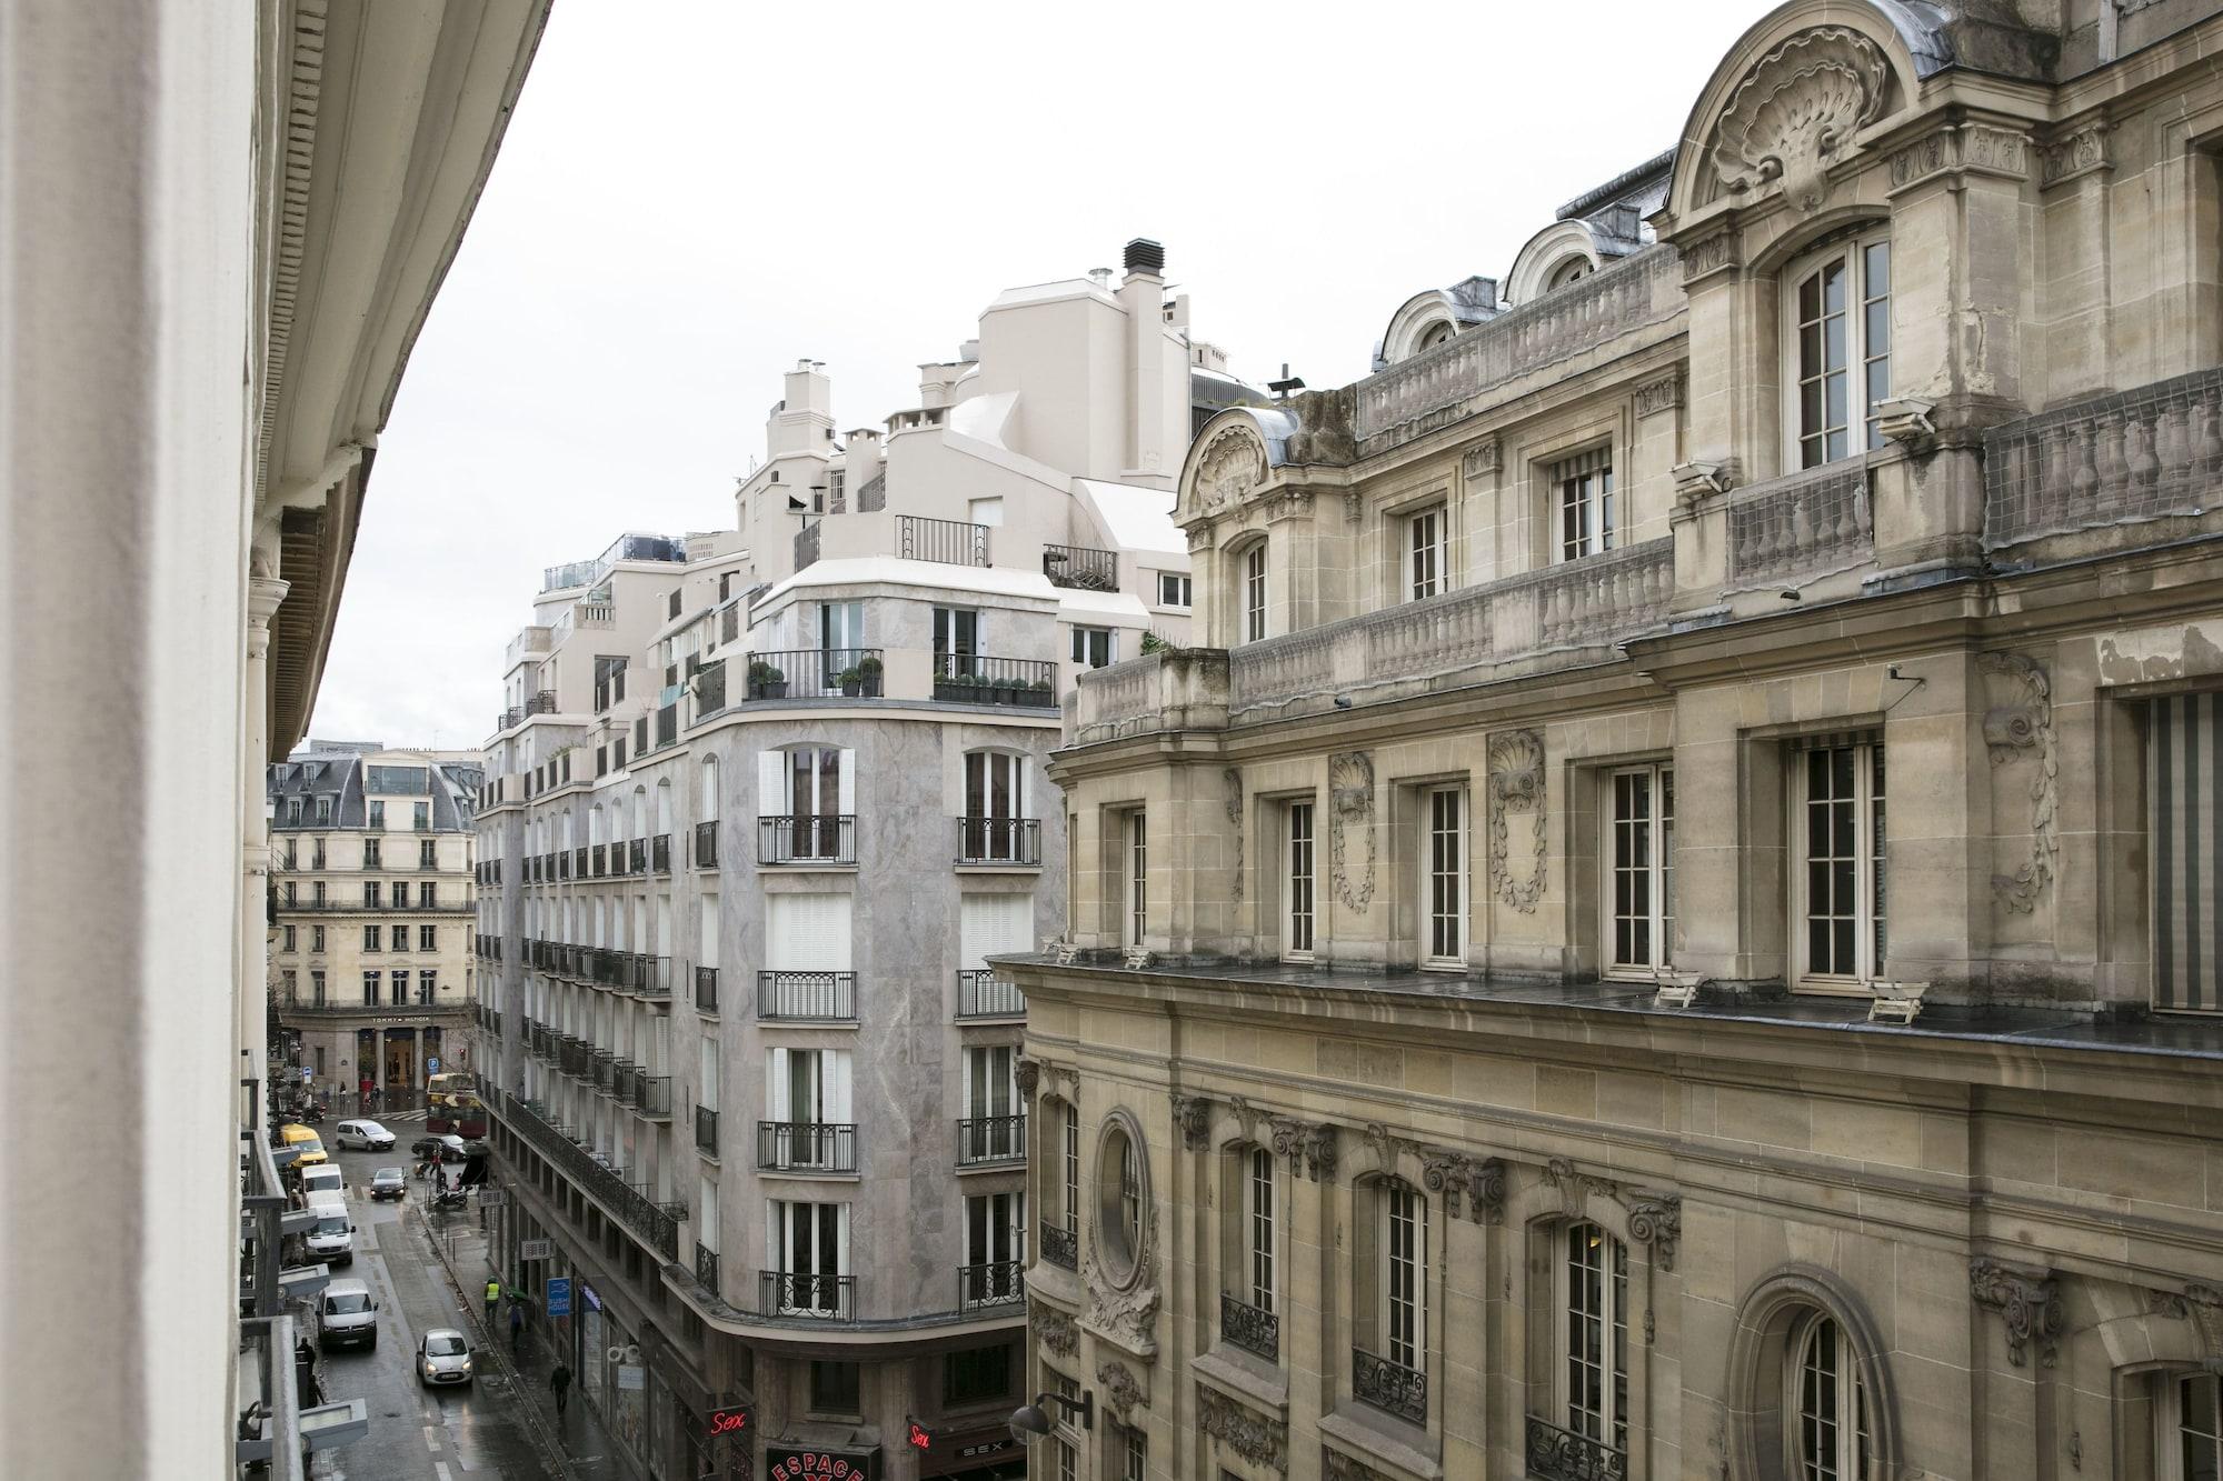
M 1983 451 L 1985 549 L 2203 514 L 2223 478 L 2223 369 L 2005 423 Z

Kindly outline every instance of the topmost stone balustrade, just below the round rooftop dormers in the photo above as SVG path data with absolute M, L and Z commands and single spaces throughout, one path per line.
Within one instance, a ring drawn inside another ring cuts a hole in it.
M 1507 309 L 1358 382 L 1365 451 L 1394 447 L 1472 411 L 1489 387 L 1683 311 L 1672 247 L 1647 247 L 1603 271 Z

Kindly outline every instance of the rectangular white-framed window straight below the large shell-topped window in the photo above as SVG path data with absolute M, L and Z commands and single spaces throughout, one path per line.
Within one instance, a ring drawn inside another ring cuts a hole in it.
M 1858 985 L 1885 950 L 1883 745 L 1810 745 L 1792 763 L 1796 972 L 1818 987 Z

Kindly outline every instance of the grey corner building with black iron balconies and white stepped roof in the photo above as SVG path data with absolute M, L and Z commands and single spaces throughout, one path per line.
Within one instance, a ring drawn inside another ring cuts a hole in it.
M 1060 930 L 1060 698 L 1187 640 L 1174 480 L 1243 394 L 1160 267 L 1003 294 L 885 436 L 836 438 L 803 362 L 736 529 L 554 567 L 511 647 L 496 1243 L 580 1281 L 585 1394 L 654 1474 L 1025 1474 L 1025 1003 L 987 958 Z

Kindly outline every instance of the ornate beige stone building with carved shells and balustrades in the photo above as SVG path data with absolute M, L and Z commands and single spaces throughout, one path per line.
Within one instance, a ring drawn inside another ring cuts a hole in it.
M 1038 1474 L 2219 1472 L 2214 9 L 1792 0 L 1203 425 L 996 963 Z

